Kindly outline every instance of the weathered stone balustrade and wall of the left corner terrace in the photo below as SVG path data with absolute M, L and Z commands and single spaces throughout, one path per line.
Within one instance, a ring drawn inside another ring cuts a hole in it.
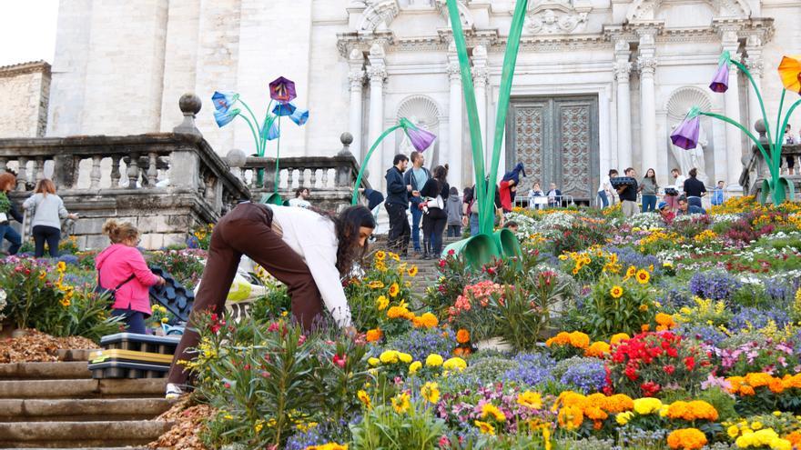
M 17 174 L 20 203 L 43 178 L 56 182 L 70 212 L 81 216 L 81 247 L 107 244 L 106 219 L 137 225 L 142 246 L 185 242 L 197 225 L 216 222 L 248 188 L 199 134 L 0 139 L 0 171 Z

